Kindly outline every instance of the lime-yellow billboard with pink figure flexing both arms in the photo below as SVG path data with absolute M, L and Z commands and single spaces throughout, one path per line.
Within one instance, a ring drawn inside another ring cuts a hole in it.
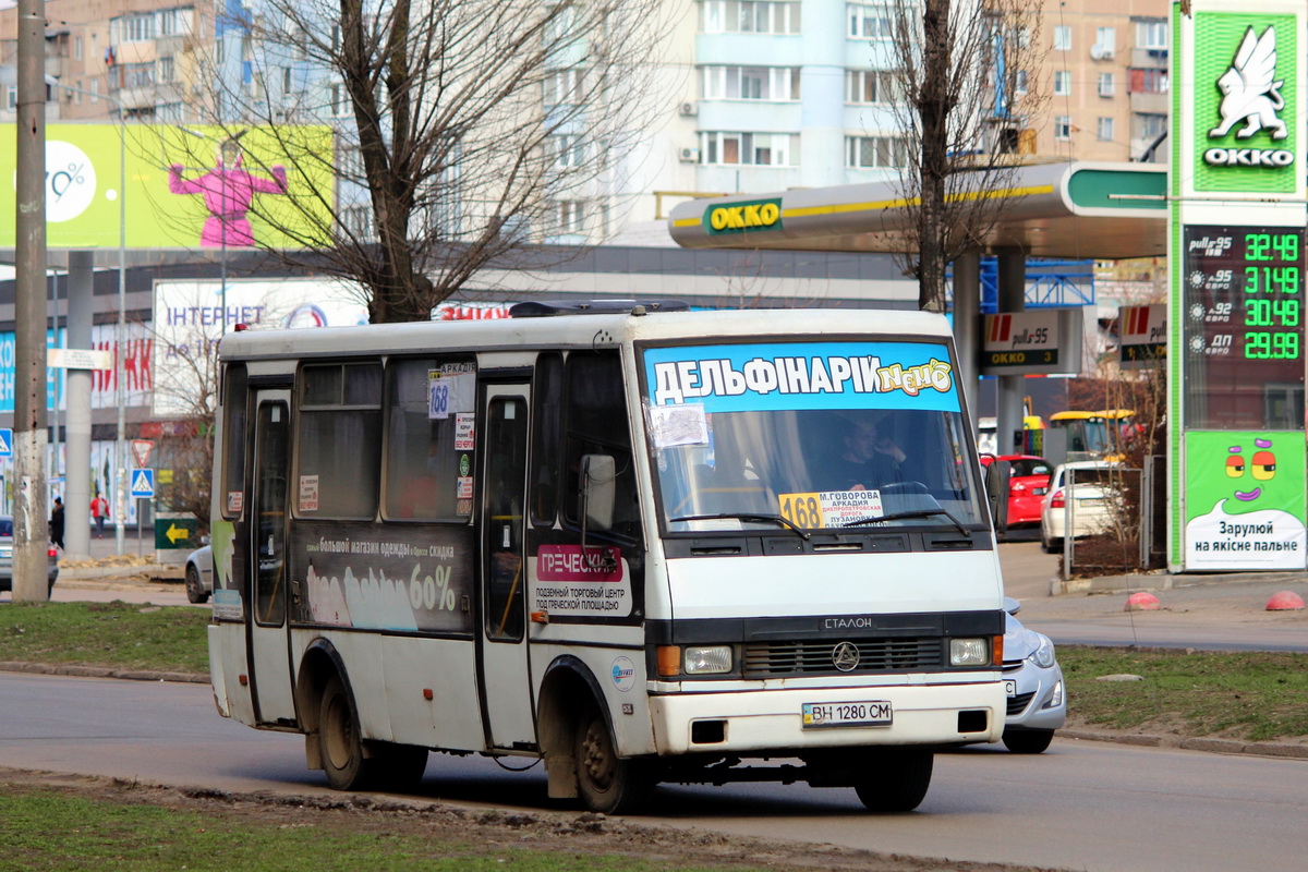
M 16 141 L 13 126 L 0 136 Z M 50 124 L 51 248 L 302 248 L 330 242 L 330 127 Z M 17 154 L 0 150 L 0 178 Z M 124 180 L 126 173 L 126 180 Z M 0 184 L 0 247 L 14 244 L 14 186 Z M 119 216 L 126 233 L 119 235 Z

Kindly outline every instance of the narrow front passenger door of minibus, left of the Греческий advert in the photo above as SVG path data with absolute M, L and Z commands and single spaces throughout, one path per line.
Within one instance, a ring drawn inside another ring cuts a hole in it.
M 479 429 L 484 458 L 480 506 L 481 701 L 487 744 L 536 744 L 527 646 L 527 566 L 523 510 L 527 505 L 528 386 L 488 384 Z

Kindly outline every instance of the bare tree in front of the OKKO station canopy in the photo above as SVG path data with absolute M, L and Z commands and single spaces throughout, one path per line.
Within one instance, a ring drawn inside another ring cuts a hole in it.
M 900 167 L 909 212 L 905 273 L 918 305 L 944 311 L 951 260 L 980 247 L 1020 166 L 1023 131 L 1042 109 L 1040 0 L 900 0 L 882 26 L 901 143 L 879 144 Z

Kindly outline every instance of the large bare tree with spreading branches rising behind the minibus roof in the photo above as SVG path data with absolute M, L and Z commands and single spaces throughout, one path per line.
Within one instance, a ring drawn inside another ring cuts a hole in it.
M 488 263 L 530 268 L 534 243 L 603 233 L 621 205 L 615 156 L 640 154 L 661 114 L 666 5 L 266 0 L 220 17 L 243 35 L 238 51 L 220 35 L 207 102 L 224 139 L 271 132 L 288 158 L 285 196 L 251 204 L 281 234 L 269 250 L 357 281 L 374 323 L 426 319 Z M 334 153 L 297 132 L 311 123 L 335 127 Z M 215 144 L 188 148 L 212 161 Z M 266 162 L 251 170 L 277 179 Z M 309 178 L 339 199 L 296 184 Z

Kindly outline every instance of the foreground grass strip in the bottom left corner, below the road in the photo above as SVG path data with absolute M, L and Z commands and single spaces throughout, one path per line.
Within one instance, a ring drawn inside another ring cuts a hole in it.
M 449 825 L 420 813 L 373 814 L 358 809 L 164 807 L 88 797 L 67 790 L 5 784 L 0 791 L 0 871 L 177 872 L 654 872 L 670 868 L 632 856 L 532 850 L 531 835 L 451 838 Z M 462 824 L 468 831 L 468 822 Z M 672 865 L 674 869 L 708 867 Z

